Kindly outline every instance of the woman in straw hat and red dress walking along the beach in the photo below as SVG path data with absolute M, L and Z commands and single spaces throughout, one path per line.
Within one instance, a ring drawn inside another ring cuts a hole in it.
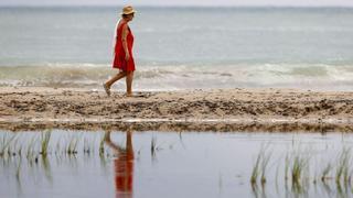
M 132 21 L 135 10 L 131 6 L 122 9 L 121 19 L 116 28 L 116 43 L 113 68 L 118 68 L 119 73 L 103 84 L 103 87 L 108 96 L 110 96 L 110 87 L 117 80 L 126 77 L 126 96 L 132 96 L 132 78 L 135 70 L 135 61 L 132 56 L 133 35 L 128 25 Z

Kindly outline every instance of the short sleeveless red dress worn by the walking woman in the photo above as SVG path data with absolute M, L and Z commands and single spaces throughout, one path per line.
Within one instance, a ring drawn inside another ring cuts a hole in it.
M 127 35 L 127 44 L 128 44 L 128 51 L 130 54 L 130 59 L 125 59 L 125 51 L 122 46 L 122 28 L 125 25 L 128 25 L 127 22 L 121 22 L 120 25 L 117 25 L 116 30 L 116 44 L 115 44 L 115 56 L 113 62 L 113 68 L 118 68 L 124 72 L 132 72 L 135 70 L 135 61 L 132 57 L 132 46 L 133 46 L 133 35 L 128 26 L 129 33 Z

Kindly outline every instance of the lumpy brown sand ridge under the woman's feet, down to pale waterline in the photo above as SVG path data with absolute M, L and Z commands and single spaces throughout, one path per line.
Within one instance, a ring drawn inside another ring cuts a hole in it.
M 72 88 L 0 88 L 0 121 L 121 121 L 127 119 L 344 122 L 353 92 L 296 89 L 143 91 L 135 97 Z

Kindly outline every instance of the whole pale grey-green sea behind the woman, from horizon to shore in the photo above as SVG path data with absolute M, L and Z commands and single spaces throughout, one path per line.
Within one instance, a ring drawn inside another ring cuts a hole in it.
M 101 89 L 120 10 L 1 7 L 0 86 Z M 353 8 L 136 10 L 135 90 L 353 89 Z

